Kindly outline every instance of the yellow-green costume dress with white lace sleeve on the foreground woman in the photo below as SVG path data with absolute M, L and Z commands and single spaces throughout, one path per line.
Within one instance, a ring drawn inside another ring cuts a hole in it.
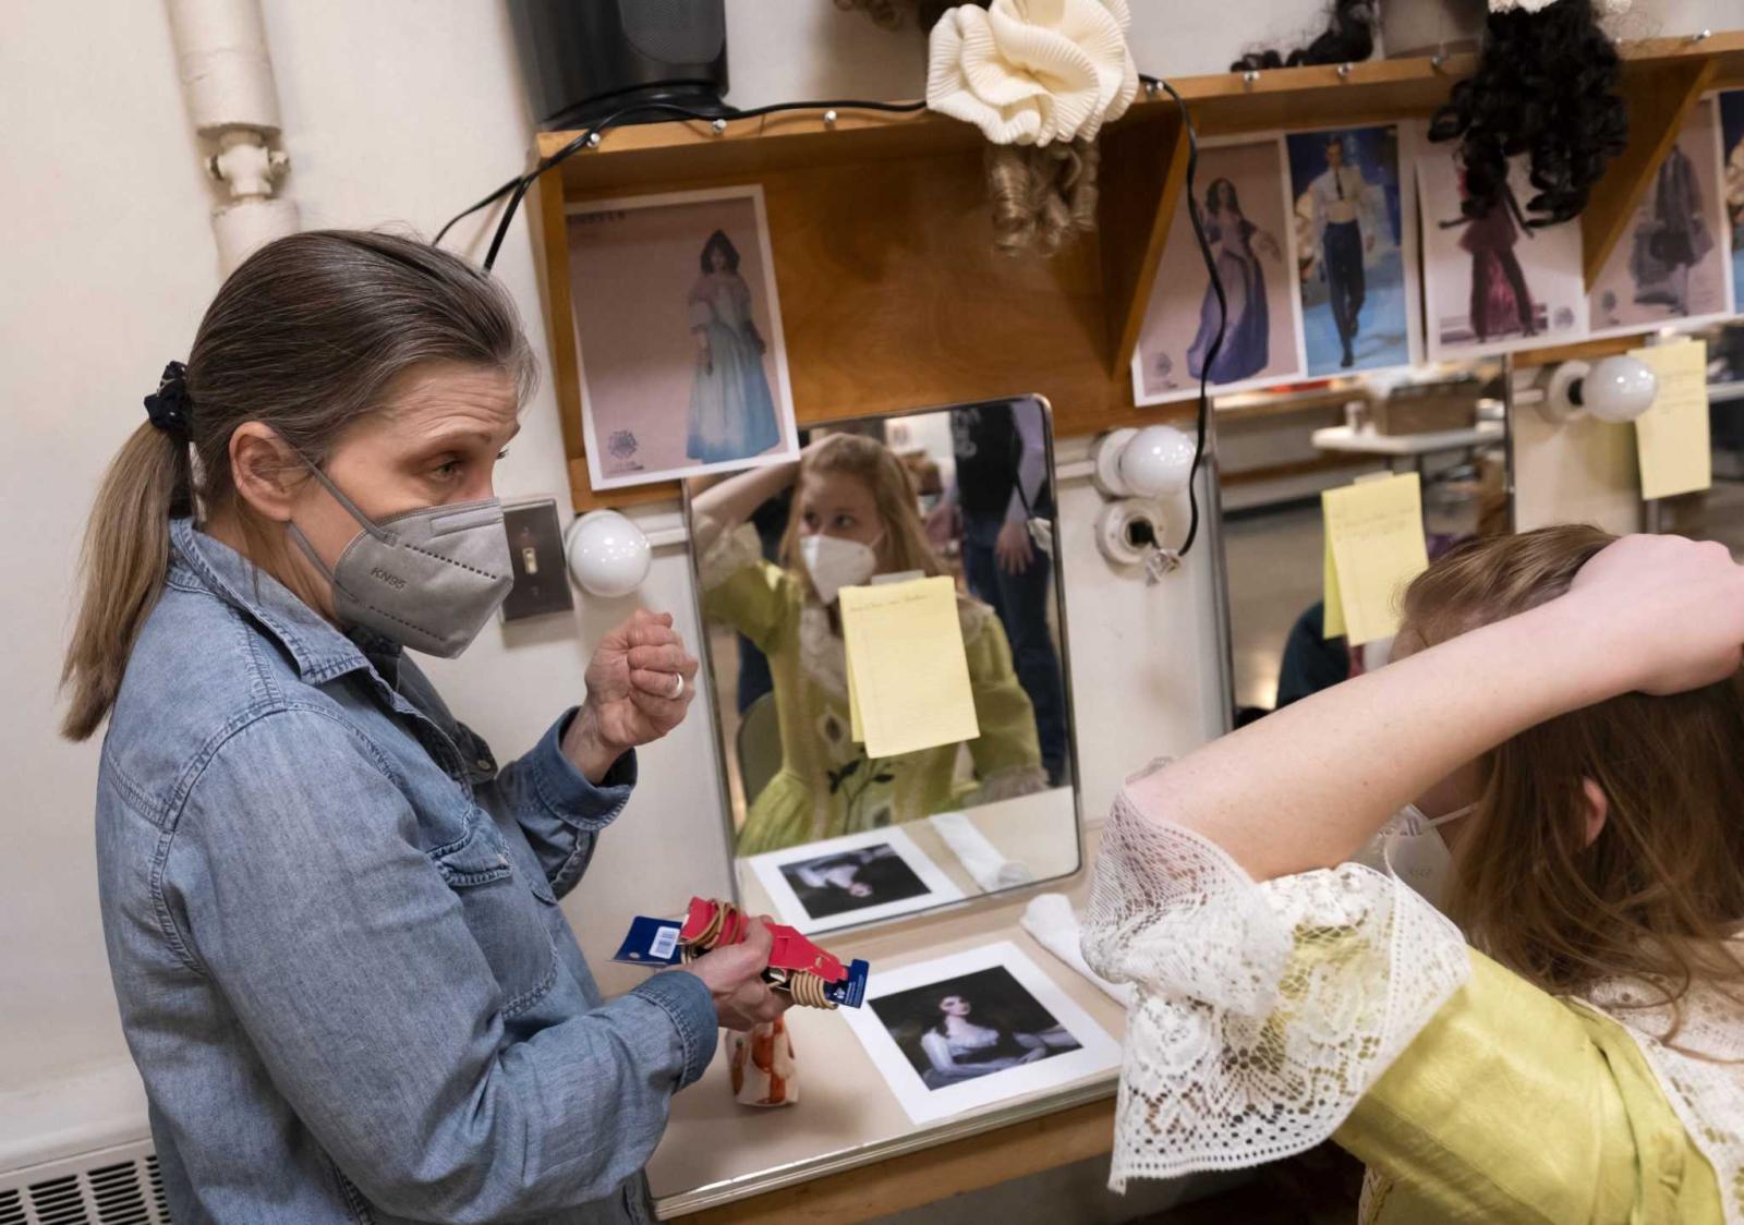
M 1085 956 L 1137 988 L 1111 1185 L 1334 1139 L 1364 1225 L 1739 1225 L 1744 1009 L 1547 995 L 1360 864 L 1256 885 L 1121 796 Z

